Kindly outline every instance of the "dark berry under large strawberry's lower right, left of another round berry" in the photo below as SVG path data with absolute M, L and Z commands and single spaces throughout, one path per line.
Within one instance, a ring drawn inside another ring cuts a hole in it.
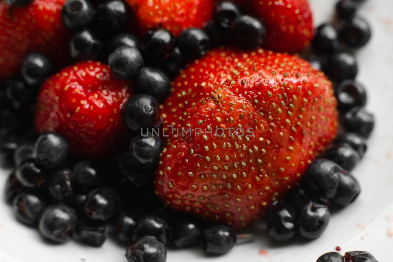
M 296 211 L 283 202 L 274 202 L 267 213 L 267 231 L 277 241 L 293 238 L 296 235 Z

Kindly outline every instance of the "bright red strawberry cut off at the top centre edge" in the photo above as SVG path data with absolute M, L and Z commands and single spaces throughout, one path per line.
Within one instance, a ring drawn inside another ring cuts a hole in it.
M 202 27 L 213 15 L 212 0 L 126 0 L 136 16 L 140 34 L 163 27 L 175 36 L 189 27 Z

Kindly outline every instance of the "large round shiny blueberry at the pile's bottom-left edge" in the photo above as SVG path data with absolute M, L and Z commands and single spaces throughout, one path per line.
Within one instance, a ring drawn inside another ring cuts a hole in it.
M 51 205 L 40 218 L 39 231 L 53 242 L 65 243 L 71 239 L 76 223 L 77 214 L 71 207 L 64 204 Z

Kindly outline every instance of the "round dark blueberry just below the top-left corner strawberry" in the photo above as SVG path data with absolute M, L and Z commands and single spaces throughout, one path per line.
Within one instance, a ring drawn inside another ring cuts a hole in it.
M 52 71 L 50 60 L 40 53 L 31 53 L 22 63 L 22 77 L 30 86 L 40 86 Z

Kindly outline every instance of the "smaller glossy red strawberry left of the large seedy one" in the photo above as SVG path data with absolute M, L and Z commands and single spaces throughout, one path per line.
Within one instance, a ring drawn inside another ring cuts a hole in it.
M 99 158 L 118 153 L 130 138 L 120 117 L 130 94 L 129 83 L 114 79 L 109 66 L 94 61 L 77 63 L 43 84 L 36 128 L 64 136 L 76 156 Z

